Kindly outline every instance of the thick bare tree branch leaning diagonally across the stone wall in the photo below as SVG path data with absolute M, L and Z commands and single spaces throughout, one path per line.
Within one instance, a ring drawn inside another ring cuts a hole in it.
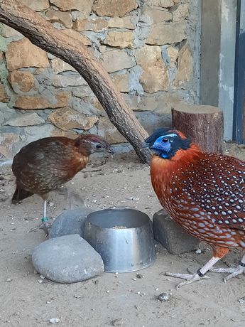
M 72 65 L 87 81 L 111 122 L 131 143 L 139 158 L 149 162 L 150 151 L 141 149 L 148 137 L 146 130 L 116 90 L 107 71 L 85 45 L 66 36 L 18 0 L 0 0 L 0 21 L 22 33 L 39 48 Z

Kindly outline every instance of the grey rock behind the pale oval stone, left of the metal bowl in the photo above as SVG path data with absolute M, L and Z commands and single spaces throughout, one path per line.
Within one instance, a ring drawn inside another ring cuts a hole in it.
M 72 234 L 79 234 L 82 237 L 87 215 L 93 211 L 86 207 L 65 210 L 53 222 L 49 238 Z

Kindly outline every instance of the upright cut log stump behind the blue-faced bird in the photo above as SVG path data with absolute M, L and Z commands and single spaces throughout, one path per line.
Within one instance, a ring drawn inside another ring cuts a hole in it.
M 223 153 L 224 121 L 219 108 L 195 104 L 172 108 L 172 126 L 203 151 Z

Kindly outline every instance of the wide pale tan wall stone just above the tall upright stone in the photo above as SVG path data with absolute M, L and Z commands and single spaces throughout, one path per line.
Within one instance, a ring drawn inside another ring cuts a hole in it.
M 154 24 L 148 34 L 146 43 L 150 45 L 165 45 L 181 42 L 186 39 L 186 27 L 186 21 Z

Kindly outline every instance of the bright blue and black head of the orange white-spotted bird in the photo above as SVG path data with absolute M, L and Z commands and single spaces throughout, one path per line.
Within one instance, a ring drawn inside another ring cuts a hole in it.
M 185 135 L 175 129 L 156 129 L 146 139 L 143 148 L 151 149 L 157 156 L 163 159 L 171 159 L 180 149 L 190 148 L 191 141 Z

